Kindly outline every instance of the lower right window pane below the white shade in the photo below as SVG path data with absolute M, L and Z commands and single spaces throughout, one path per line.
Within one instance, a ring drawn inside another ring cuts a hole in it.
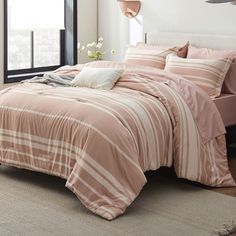
M 60 65 L 60 31 L 34 32 L 34 67 Z

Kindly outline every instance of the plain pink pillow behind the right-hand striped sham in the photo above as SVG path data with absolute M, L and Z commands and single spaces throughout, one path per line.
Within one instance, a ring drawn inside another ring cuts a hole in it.
M 222 93 L 236 94 L 236 51 L 214 50 L 189 46 L 187 58 L 192 59 L 220 59 L 232 58 L 232 64 L 225 77 Z

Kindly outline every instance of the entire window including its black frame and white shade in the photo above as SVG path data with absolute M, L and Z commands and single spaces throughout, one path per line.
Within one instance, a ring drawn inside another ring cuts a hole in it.
M 76 63 L 76 7 L 75 0 L 5 0 L 5 83 Z

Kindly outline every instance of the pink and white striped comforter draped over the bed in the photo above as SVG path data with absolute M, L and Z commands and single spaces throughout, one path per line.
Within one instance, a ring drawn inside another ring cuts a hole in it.
M 0 162 L 60 176 L 95 214 L 112 220 L 134 201 L 145 171 L 235 186 L 213 102 L 181 77 L 100 62 L 125 73 L 111 91 L 24 83 L 0 92 Z M 81 66 L 57 73 L 79 73 Z

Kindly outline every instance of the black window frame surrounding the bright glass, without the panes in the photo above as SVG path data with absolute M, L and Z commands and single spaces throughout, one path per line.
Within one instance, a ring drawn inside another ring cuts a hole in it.
M 77 64 L 77 0 L 64 1 L 65 30 L 60 30 L 60 65 L 8 70 L 8 0 L 4 0 L 4 83 L 20 82 L 36 75 L 41 76 L 44 72 L 56 70 L 66 64 Z M 33 41 L 34 32 L 31 31 L 32 49 Z M 33 55 L 31 55 L 31 60 L 33 60 Z

